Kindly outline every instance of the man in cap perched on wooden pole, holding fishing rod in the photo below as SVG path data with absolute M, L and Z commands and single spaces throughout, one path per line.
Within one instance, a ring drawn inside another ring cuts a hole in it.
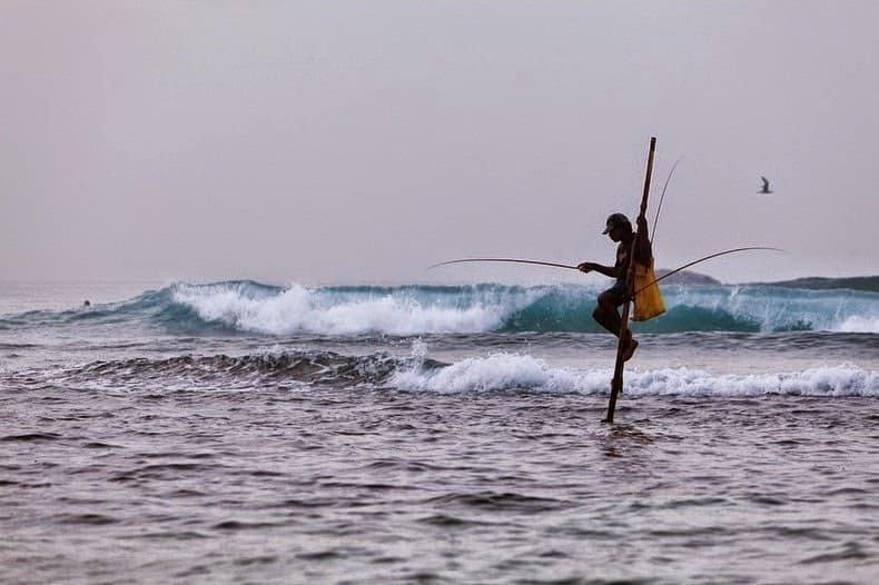
M 653 252 L 648 237 L 646 219 L 639 217 L 638 219 L 638 244 L 635 246 L 635 264 L 643 266 L 651 266 L 653 260 Z M 604 276 L 615 278 L 616 282 L 599 295 L 597 306 L 592 313 L 592 317 L 605 329 L 615 336 L 620 336 L 620 325 L 622 317 L 618 308 L 630 300 L 630 290 L 626 282 L 629 276 L 629 251 L 632 249 L 632 242 L 635 239 L 635 232 L 632 230 L 632 224 L 629 218 L 623 214 L 611 214 L 608 217 L 606 227 L 603 231 L 611 240 L 619 244 L 616 247 L 616 262 L 613 266 L 603 266 L 595 262 L 582 262 L 577 265 L 581 272 L 589 274 L 591 271 L 601 272 Z M 632 331 L 625 327 L 623 331 L 623 360 L 631 359 L 632 355 L 638 348 L 638 341 L 632 337 Z

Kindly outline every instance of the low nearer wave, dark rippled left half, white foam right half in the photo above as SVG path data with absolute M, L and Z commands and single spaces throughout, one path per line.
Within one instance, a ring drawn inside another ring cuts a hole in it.
M 554 367 L 523 354 L 492 354 L 451 364 L 428 359 L 419 344 L 408 357 L 385 353 L 348 356 L 332 351 L 289 351 L 238 357 L 177 356 L 164 359 L 96 361 L 73 368 L 9 374 L 18 386 L 61 384 L 79 388 L 152 391 L 246 391 L 269 388 L 362 388 L 429 394 L 533 391 L 603 396 L 611 368 Z M 13 379 L 14 378 L 14 379 Z M 20 379 L 19 379 L 20 378 Z M 762 374 L 714 374 L 689 367 L 626 373 L 625 395 L 725 396 L 763 395 L 879 397 L 879 371 L 853 365 L 811 367 Z

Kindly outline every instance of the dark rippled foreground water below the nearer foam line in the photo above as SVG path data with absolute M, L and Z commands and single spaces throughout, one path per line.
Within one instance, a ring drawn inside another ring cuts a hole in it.
M 32 387 L 4 581 L 869 583 L 879 404 Z

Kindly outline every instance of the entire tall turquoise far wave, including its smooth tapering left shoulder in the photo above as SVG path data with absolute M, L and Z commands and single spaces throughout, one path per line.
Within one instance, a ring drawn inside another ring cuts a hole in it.
M 149 327 L 172 335 L 600 333 L 601 288 L 580 285 L 278 287 L 241 280 L 176 284 L 86 310 L 31 311 L 0 328 Z M 642 333 L 879 333 L 879 292 L 774 285 L 669 286 L 666 314 Z

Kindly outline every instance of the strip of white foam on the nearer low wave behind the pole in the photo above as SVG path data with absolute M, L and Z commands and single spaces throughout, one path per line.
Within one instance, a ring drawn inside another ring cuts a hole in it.
M 391 385 L 403 390 L 470 393 L 526 388 L 534 391 L 604 394 L 610 369 L 553 368 L 518 354 L 467 358 L 442 368 L 416 366 L 396 373 Z M 713 374 L 701 369 L 664 368 L 630 371 L 628 396 L 879 396 L 879 371 L 856 366 L 816 367 L 801 371 Z

